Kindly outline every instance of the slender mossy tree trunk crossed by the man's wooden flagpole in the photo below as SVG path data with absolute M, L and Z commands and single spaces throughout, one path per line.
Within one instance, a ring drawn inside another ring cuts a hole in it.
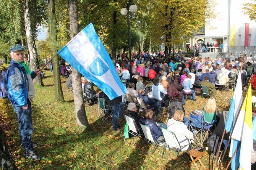
M 55 18 L 55 0 L 48 0 L 48 33 L 50 37 L 50 51 L 51 56 L 55 56 L 58 52 L 55 42 L 57 42 L 57 29 Z M 64 102 L 64 96 L 62 92 L 62 84 L 60 81 L 60 65 L 58 56 L 52 60 L 53 80 L 54 80 L 54 92 L 55 99 L 60 102 Z

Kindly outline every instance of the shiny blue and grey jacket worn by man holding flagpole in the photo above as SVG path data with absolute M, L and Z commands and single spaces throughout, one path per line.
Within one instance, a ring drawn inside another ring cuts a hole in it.
M 11 60 L 11 64 L 17 67 L 9 67 L 5 73 L 5 84 L 8 87 L 8 99 L 13 106 L 23 107 L 27 104 L 28 99 L 28 77 L 24 67 Z M 36 77 L 36 73 L 32 71 L 31 78 Z

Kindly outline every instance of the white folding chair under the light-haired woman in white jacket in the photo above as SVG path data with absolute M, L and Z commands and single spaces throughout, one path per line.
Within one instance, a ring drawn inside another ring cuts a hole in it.
M 162 133 L 163 133 L 163 136 L 164 136 L 164 140 L 165 140 L 165 144 L 164 144 L 164 150 L 162 152 L 162 157 L 164 157 L 164 152 L 165 152 L 165 149 L 172 149 L 173 151 L 177 152 L 177 156 L 176 156 L 176 159 L 177 160 L 177 157 L 179 155 L 179 152 L 180 151 L 186 151 L 189 147 L 189 144 L 190 144 L 190 141 L 189 139 L 185 139 L 185 140 L 182 140 L 182 141 L 178 141 L 175 133 L 173 133 L 172 131 L 170 130 L 166 130 L 164 128 L 161 128 L 162 130 Z M 181 146 L 183 145 L 182 143 L 184 141 L 188 140 L 188 144 L 185 144 L 184 146 Z

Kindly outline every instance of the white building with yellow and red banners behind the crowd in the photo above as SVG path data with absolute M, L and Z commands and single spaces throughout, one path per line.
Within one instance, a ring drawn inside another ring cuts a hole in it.
M 223 43 L 223 56 L 240 53 L 256 56 L 256 22 L 243 14 L 243 4 L 254 3 L 254 0 L 215 0 L 214 12 L 216 19 L 206 21 L 204 34 L 194 35 L 194 43 Z

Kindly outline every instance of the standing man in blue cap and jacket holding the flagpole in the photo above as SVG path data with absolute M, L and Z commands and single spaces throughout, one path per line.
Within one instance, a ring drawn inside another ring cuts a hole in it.
M 41 71 L 30 71 L 29 66 L 24 62 L 24 49 L 20 44 L 11 47 L 10 56 L 12 58 L 11 63 L 5 74 L 8 99 L 18 116 L 21 144 L 26 150 L 25 157 L 40 160 L 41 158 L 33 150 L 31 141 L 33 131 L 31 103 L 35 96 L 32 79 L 39 75 Z

